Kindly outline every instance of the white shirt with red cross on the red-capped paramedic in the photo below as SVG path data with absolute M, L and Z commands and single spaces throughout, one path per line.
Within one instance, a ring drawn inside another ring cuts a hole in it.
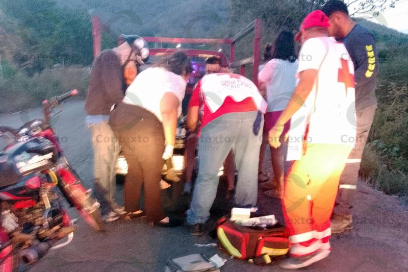
M 290 137 L 301 136 L 296 132 L 304 134 L 309 121 L 308 142 L 353 145 L 348 139 L 355 137 L 354 66 L 346 47 L 333 37 L 308 39 L 300 50 L 296 77 L 307 69 L 319 70 L 318 78 L 302 108 L 291 118 Z

